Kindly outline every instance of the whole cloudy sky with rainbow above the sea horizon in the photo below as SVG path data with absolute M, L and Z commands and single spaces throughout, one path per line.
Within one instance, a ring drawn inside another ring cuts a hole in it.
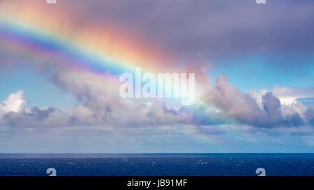
M 311 0 L 0 1 L 0 152 L 314 152 Z M 195 73 L 195 102 L 119 75 Z

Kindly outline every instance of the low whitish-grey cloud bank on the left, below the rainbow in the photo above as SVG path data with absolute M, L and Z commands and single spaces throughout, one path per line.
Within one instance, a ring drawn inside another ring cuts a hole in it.
M 81 81 L 82 82 L 82 81 Z M 71 86 L 72 88 L 75 85 Z M 84 89 L 87 86 L 80 86 Z M 88 86 L 82 102 L 72 109 L 27 107 L 22 91 L 9 95 L 1 104 L 2 124 L 12 127 L 77 127 L 103 126 L 138 128 L 146 126 L 178 125 L 188 123 L 190 116 L 183 111 L 168 108 L 162 101 L 125 100 L 108 94 L 105 89 Z M 74 91 L 75 93 L 75 91 Z M 84 100 L 83 100 L 84 99 Z M 23 100 L 23 101 L 21 101 Z M 10 102 L 10 104 L 8 104 Z

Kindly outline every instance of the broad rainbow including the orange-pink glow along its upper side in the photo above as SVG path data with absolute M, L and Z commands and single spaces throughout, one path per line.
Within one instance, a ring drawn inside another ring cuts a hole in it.
M 152 53 L 154 50 L 147 49 L 149 45 L 132 44 L 132 40 L 121 33 L 108 37 L 104 30 L 84 29 L 82 33 L 73 34 L 73 29 L 77 28 L 73 23 L 77 24 L 77 18 L 65 19 L 64 14 L 49 13 L 50 9 L 56 10 L 45 6 L 38 1 L 0 3 L 1 49 L 96 73 L 134 72 L 135 67 L 155 72 L 167 65 L 160 62 L 162 58 L 153 60 L 156 55 Z

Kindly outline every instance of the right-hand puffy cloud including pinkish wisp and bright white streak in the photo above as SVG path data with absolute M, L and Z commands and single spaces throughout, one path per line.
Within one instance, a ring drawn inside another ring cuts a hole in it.
M 199 80 L 210 81 L 206 72 L 195 70 L 202 76 Z M 218 109 L 233 118 L 234 121 L 262 128 L 296 127 L 301 125 L 313 125 L 311 106 L 304 106 L 301 102 L 282 104 L 282 98 L 312 97 L 313 89 L 306 88 L 280 88 L 274 90 L 253 90 L 242 93 L 239 88 L 229 84 L 227 76 L 221 75 L 214 86 L 211 83 L 201 83 L 206 89 L 203 100 L 207 104 L 214 104 Z M 279 98 L 278 98 L 279 97 Z

